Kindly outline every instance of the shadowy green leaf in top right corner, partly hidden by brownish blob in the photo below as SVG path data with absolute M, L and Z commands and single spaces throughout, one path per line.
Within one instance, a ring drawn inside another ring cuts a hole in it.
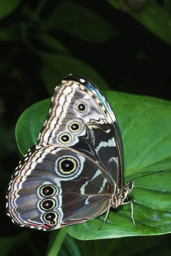
M 114 8 L 122 10 L 117 0 L 107 0 Z M 156 0 L 148 1 L 140 11 L 128 11 L 139 23 L 151 33 L 171 44 L 171 15 L 168 10 L 157 4 Z

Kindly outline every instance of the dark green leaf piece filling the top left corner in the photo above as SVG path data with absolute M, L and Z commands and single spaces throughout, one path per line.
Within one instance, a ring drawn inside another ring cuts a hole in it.
M 0 1 L 0 19 L 14 12 L 14 10 L 19 6 L 20 2 L 21 0 L 8 0 L 8 2 Z

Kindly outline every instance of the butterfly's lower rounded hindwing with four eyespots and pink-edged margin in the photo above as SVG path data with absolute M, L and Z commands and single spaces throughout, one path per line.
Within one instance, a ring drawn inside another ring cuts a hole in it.
M 108 194 L 93 161 L 70 148 L 34 145 L 13 174 L 6 213 L 14 224 L 52 230 L 103 213 Z

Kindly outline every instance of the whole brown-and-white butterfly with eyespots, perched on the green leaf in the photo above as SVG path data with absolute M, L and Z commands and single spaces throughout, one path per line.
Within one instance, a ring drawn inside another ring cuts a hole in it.
M 101 91 L 84 76 L 66 76 L 55 88 L 38 142 L 20 160 L 7 191 L 14 224 L 54 230 L 83 223 L 111 207 L 133 204 L 123 184 L 119 125 Z M 99 228 L 99 230 L 101 229 Z

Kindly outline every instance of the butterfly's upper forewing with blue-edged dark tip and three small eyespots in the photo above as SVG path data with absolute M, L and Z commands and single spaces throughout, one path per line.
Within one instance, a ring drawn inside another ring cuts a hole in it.
M 78 109 L 81 105 L 84 110 Z M 78 125 L 75 130 L 74 124 Z M 68 141 L 62 141 L 62 135 Z M 122 189 L 123 145 L 118 122 L 104 95 L 83 76 L 69 75 L 55 88 L 39 143 L 60 143 L 89 156 Z

